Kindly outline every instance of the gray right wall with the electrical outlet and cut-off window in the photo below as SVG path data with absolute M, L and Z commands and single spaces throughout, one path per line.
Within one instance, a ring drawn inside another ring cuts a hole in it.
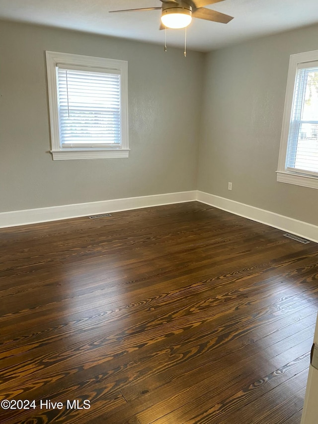
M 207 55 L 199 190 L 318 224 L 318 190 L 275 173 L 289 56 L 317 50 L 317 40 L 313 26 Z

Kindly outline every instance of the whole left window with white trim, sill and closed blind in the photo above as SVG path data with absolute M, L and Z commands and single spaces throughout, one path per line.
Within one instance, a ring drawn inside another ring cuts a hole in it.
M 128 158 L 126 61 L 46 52 L 53 160 Z

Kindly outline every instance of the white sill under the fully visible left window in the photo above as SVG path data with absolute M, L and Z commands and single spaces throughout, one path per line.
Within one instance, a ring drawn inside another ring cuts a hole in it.
M 51 150 L 53 161 L 68 161 L 72 159 L 109 159 L 128 158 L 130 149 L 118 150 Z

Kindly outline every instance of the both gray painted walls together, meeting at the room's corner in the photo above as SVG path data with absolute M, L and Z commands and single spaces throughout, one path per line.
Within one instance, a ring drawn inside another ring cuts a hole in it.
M 198 188 L 317 225 L 318 190 L 275 173 L 289 56 L 317 39 L 313 26 L 184 59 L 181 49 L 0 22 L 0 212 Z M 45 50 L 128 60 L 129 159 L 52 161 Z

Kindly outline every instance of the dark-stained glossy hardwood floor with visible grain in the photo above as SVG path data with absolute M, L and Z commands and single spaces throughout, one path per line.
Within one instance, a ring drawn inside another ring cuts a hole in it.
M 318 245 L 283 234 L 198 202 L 0 230 L 0 423 L 299 424 Z

